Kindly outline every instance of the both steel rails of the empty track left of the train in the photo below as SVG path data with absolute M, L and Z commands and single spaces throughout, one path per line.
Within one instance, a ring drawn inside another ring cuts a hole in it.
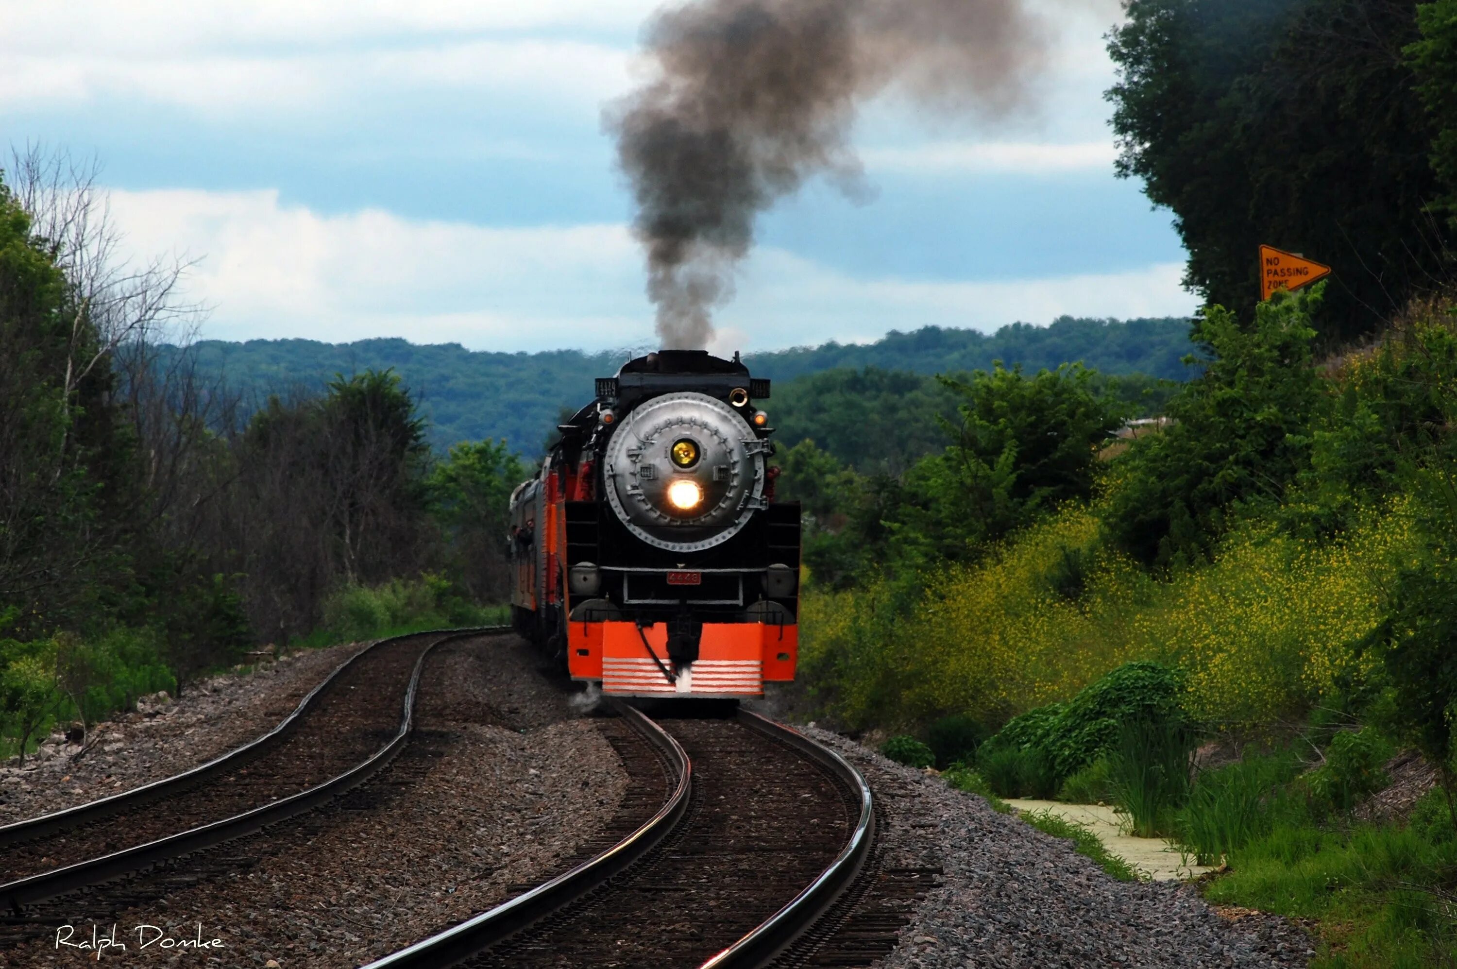
M 255 831 L 272 825 L 275 822 L 293 817 L 302 812 L 318 807 L 319 804 L 357 787 L 363 781 L 379 772 L 380 768 L 388 765 L 396 753 L 405 746 L 409 739 L 409 731 L 414 726 L 414 705 L 415 692 L 420 686 L 420 676 L 425 664 L 425 657 L 436 647 L 452 643 L 455 640 L 463 640 L 474 635 L 487 635 L 494 632 L 508 632 L 508 627 L 481 627 L 474 629 L 439 629 L 434 632 L 411 632 L 408 635 L 389 637 L 380 640 L 372 646 L 364 647 L 348 660 L 341 663 L 328 679 L 315 686 L 307 697 L 299 704 L 299 707 L 277 727 L 270 730 L 267 734 L 254 740 L 236 750 L 226 753 L 214 761 L 210 761 L 201 766 L 192 768 L 184 774 L 173 775 L 170 778 L 163 778 L 147 784 L 146 787 L 127 791 L 124 794 L 117 794 L 101 801 L 92 801 L 89 804 L 82 804 L 79 807 L 68 809 L 66 812 L 57 812 L 55 815 L 47 815 L 35 822 L 22 822 L 20 825 L 12 825 L 10 828 L 22 828 L 25 825 L 38 825 L 31 828 L 28 836 L 35 836 L 36 833 L 61 831 L 64 828 L 79 825 L 87 820 L 95 820 L 99 817 L 109 816 L 118 810 L 127 810 L 134 806 L 144 806 L 162 797 L 168 793 L 176 790 L 181 785 L 191 785 L 198 781 L 205 781 L 216 775 L 224 768 L 237 766 L 240 764 L 248 764 L 256 756 L 267 752 L 268 748 L 275 745 L 287 733 L 291 733 L 297 724 L 302 714 L 309 710 L 323 691 L 334 682 L 339 673 L 347 667 L 354 664 L 361 656 L 370 653 L 372 650 L 380 648 L 389 643 L 398 643 L 404 638 L 412 638 L 417 635 L 439 635 L 440 638 L 431 643 L 420 654 L 415 662 L 415 667 L 411 672 L 409 686 L 405 691 L 404 708 L 401 711 L 399 729 L 395 737 L 386 743 L 383 748 L 370 755 L 369 759 L 360 762 L 358 765 L 350 768 L 348 771 L 335 775 L 334 778 L 316 784 L 305 791 L 291 794 L 268 804 L 246 810 L 233 817 L 217 820 L 208 825 L 201 825 L 189 831 L 184 831 L 166 838 L 159 838 L 143 845 L 136 845 L 131 848 L 124 848 L 108 855 L 101 855 L 90 858 L 87 861 L 79 861 L 61 868 L 54 868 L 51 871 L 42 871 L 41 874 L 34 874 L 25 879 L 17 879 L 7 884 L 0 884 L 0 903 L 13 912 L 20 912 L 25 905 L 34 902 L 41 902 L 57 895 L 66 895 L 67 892 L 74 892 L 77 889 L 89 887 L 101 882 L 146 868 L 149 866 L 157 864 L 160 861 L 168 861 L 179 855 L 198 851 L 200 848 L 208 848 L 224 841 L 232 841 L 242 835 L 249 835 Z M 48 826 L 39 826 L 45 822 Z

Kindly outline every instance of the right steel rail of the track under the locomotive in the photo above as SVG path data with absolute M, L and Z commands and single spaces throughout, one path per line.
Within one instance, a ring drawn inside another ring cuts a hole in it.
M 702 963 L 699 969 L 758 969 L 771 963 L 825 914 L 841 892 L 849 887 L 870 855 L 876 833 L 876 803 L 870 784 L 845 758 L 798 730 L 756 713 L 740 710 L 739 721 L 794 748 L 849 785 L 860 799 L 860 817 L 845 848 L 814 882 L 752 933 Z

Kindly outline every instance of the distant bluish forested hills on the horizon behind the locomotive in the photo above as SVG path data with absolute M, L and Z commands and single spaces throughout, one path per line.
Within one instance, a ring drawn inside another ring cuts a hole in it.
M 1145 373 L 1182 379 L 1189 353 L 1186 319 L 1072 319 L 1050 326 L 1014 323 L 988 335 L 972 329 L 928 326 L 892 332 L 873 344 L 825 344 L 750 354 L 755 376 L 781 382 L 836 367 L 905 370 L 921 374 L 991 367 L 994 360 L 1029 370 L 1081 360 L 1106 373 Z M 421 401 L 431 423 L 431 443 L 444 449 L 462 440 L 504 437 L 513 450 L 539 452 L 562 408 L 592 396 L 592 380 L 608 376 L 628 351 L 587 354 L 557 350 L 535 354 L 471 351 L 459 344 L 418 345 L 405 340 L 325 344 L 313 340 L 217 340 L 194 344 L 207 370 L 226 373 L 249 399 L 316 391 L 337 373 L 345 376 L 393 367 Z M 788 388 L 782 388 L 788 389 Z

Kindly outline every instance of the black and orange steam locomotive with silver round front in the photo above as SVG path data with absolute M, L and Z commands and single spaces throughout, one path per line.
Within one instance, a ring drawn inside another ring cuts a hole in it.
M 511 494 L 517 631 L 619 697 L 794 679 L 800 506 L 774 500 L 769 382 L 661 350 L 596 391 Z

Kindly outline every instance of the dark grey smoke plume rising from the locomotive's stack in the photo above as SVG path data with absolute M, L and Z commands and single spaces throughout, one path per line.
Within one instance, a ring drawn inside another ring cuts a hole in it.
M 608 127 L 669 348 L 708 344 L 758 213 L 819 172 L 857 184 L 861 101 L 895 86 L 938 111 L 1002 112 L 1045 50 L 1021 0 L 696 0 L 656 15 L 645 44 L 657 74 Z

